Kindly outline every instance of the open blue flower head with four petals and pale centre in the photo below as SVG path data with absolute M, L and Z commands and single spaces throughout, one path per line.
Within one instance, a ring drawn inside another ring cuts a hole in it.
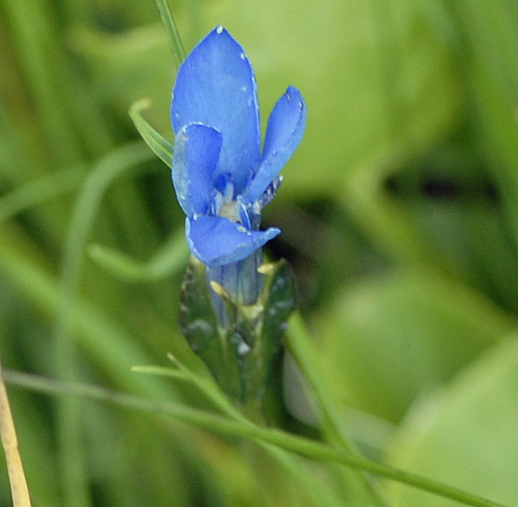
M 206 266 L 237 263 L 280 230 L 260 231 L 261 211 L 305 130 L 300 92 L 273 107 L 261 152 L 252 65 L 229 32 L 210 32 L 181 64 L 171 102 L 172 182 L 187 215 L 192 254 Z

